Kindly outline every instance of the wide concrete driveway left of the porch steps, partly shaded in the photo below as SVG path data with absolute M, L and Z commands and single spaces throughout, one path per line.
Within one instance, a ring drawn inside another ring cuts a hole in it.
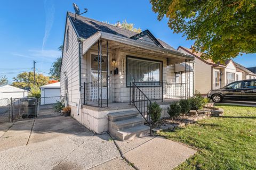
M 71 117 L 0 124 L 0 169 L 133 169 L 108 134 Z

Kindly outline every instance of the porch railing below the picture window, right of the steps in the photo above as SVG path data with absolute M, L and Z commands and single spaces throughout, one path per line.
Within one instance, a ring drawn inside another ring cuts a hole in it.
M 186 83 L 134 82 L 150 100 L 186 97 Z

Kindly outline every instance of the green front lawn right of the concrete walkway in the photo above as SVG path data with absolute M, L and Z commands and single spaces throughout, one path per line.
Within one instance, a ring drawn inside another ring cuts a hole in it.
M 198 149 L 176 169 L 256 169 L 256 107 L 217 105 L 223 117 L 159 134 Z

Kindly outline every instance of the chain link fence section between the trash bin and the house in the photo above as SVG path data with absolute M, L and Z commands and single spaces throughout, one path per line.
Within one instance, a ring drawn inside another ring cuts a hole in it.
M 54 97 L 41 97 L 38 99 L 38 117 L 53 117 L 61 116 L 61 112 L 58 112 L 56 105 L 60 105 L 60 102 L 63 101 L 63 98 L 60 96 Z

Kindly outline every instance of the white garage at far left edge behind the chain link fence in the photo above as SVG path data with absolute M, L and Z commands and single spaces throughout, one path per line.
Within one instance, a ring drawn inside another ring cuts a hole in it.
M 11 85 L 0 86 L 0 99 L 28 97 L 29 91 Z

